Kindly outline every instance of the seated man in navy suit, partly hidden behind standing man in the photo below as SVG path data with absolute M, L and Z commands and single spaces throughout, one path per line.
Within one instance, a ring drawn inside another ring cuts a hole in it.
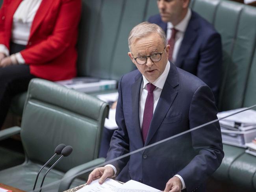
M 148 21 L 163 28 L 167 41 L 172 33 L 176 33 L 169 60 L 204 81 L 213 91 L 217 103 L 222 63 L 221 36 L 209 22 L 188 8 L 189 0 L 158 0 L 157 5 L 160 14 Z

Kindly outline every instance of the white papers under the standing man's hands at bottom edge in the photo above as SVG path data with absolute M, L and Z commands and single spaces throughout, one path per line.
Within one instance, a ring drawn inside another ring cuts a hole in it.
M 147 186 L 143 183 L 130 180 L 124 184 L 113 179 L 106 179 L 103 184 L 99 184 L 98 180 L 93 181 L 90 185 L 85 185 L 76 192 L 159 192 L 160 190 Z

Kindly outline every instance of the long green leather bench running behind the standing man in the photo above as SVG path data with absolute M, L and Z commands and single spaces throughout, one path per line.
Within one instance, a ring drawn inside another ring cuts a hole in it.
M 128 33 L 158 13 L 156 0 L 82 0 L 78 40 L 78 76 L 117 79 L 135 68 L 127 56 Z M 223 43 L 219 110 L 256 103 L 256 8 L 229 0 L 191 0 L 190 7 L 212 23 Z M 12 111 L 22 114 L 25 94 Z M 225 157 L 213 177 L 256 190 L 256 157 L 243 148 L 224 145 Z M 241 178 L 241 175 L 243 178 Z

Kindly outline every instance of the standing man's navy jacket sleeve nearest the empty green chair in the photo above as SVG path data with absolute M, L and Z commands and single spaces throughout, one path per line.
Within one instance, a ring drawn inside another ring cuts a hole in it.
M 118 101 L 117 101 L 117 108 L 116 108 L 116 115 L 115 120 L 117 122 L 118 129 L 115 130 L 111 142 L 109 151 L 106 157 L 106 161 L 109 161 L 111 159 L 120 157 L 122 155 L 125 155 L 130 152 L 129 150 L 129 137 L 125 125 L 124 120 L 124 113 L 122 109 L 122 78 L 119 81 L 118 85 Z M 129 157 L 121 158 L 118 161 L 110 162 L 109 164 L 112 164 L 117 169 L 117 174 L 124 168 L 124 166 L 127 164 L 129 160 Z

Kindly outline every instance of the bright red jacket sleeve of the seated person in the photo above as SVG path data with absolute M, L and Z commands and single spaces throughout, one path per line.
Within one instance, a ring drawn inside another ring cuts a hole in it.
M 51 35 L 20 53 L 27 64 L 46 63 L 61 55 L 76 38 L 81 0 L 63 0 Z

